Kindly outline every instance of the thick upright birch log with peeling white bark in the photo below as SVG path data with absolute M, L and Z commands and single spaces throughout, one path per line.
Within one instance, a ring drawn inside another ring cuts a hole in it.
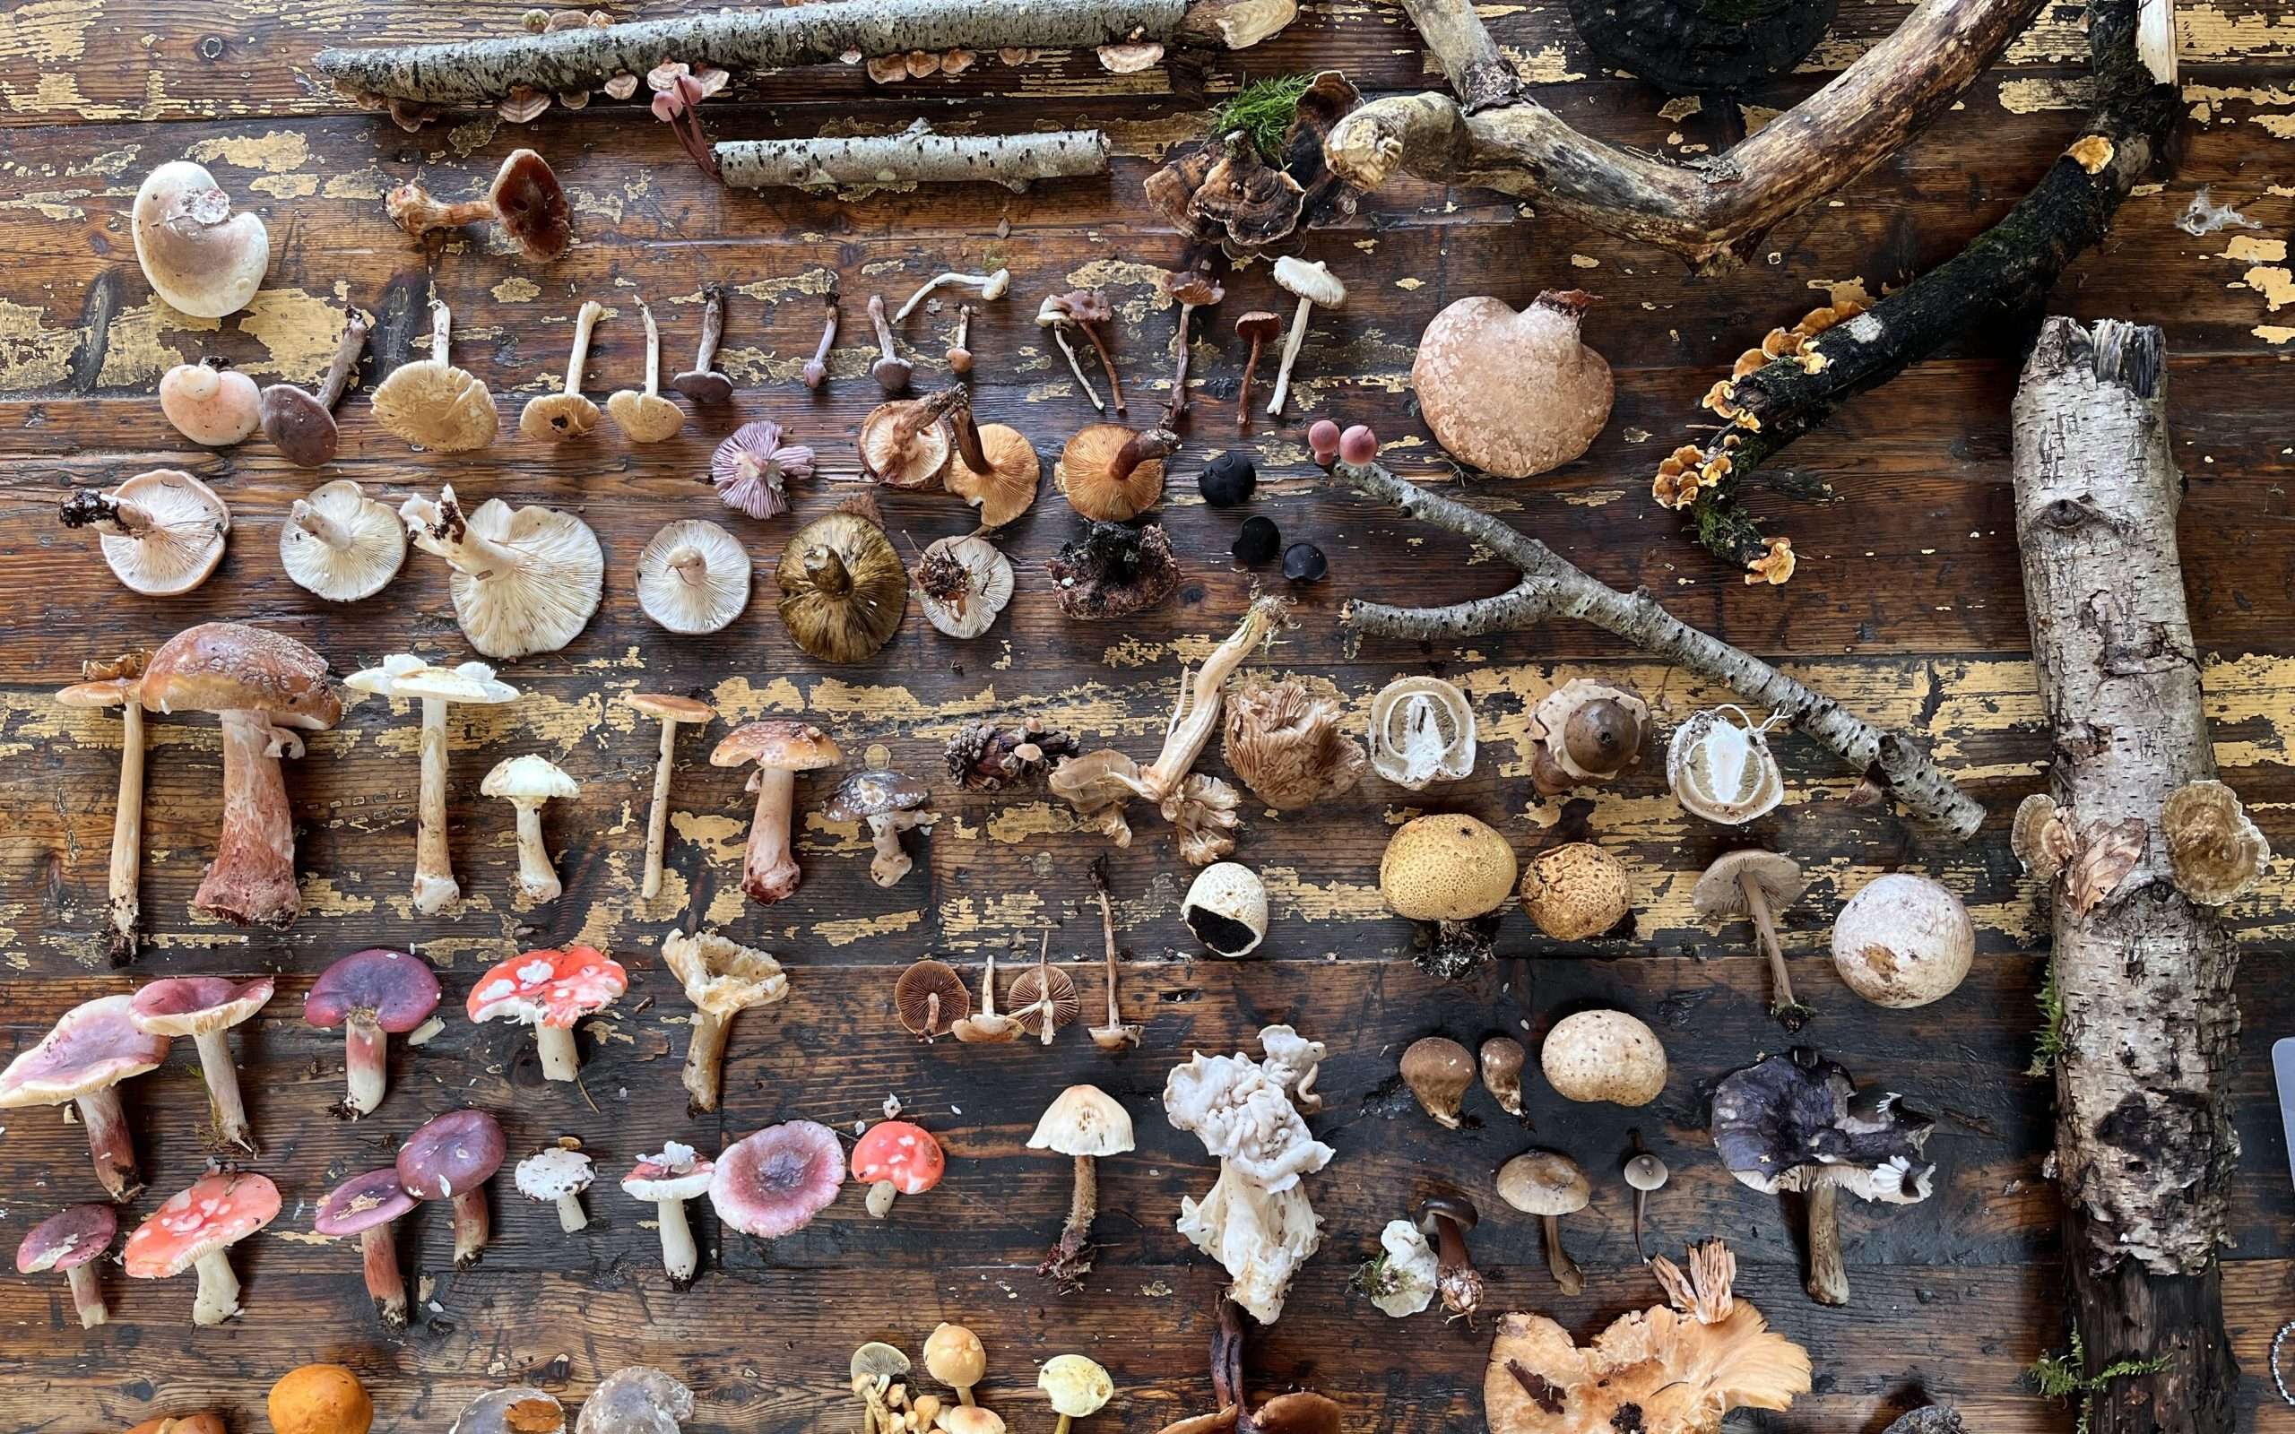
M 2176 890 L 2160 828 L 2171 792 L 2215 778 L 2162 369 L 2157 328 L 2049 319 L 2015 397 L 2015 525 L 2066 872 L 2102 837 L 2144 833 L 2102 879 L 2052 886 L 2054 1163 L 2084 1372 L 2157 1363 L 2107 1381 L 2093 1434 L 2235 1427 L 2217 1250 L 2240 1152 L 2238 950 Z

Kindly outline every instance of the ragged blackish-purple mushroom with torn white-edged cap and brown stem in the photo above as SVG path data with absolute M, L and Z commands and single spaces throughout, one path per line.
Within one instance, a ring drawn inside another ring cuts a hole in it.
M 1728 1172 L 1765 1195 L 1808 1195 L 1808 1299 L 1820 1306 L 1850 1303 L 1841 1191 L 1882 1205 L 1928 1200 L 1937 1166 L 1921 1147 L 1930 1129 L 1896 1092 L 1859 1097 L 1843 1067 L 1806 1046 L 1714 1085 L 1712 1138 Z

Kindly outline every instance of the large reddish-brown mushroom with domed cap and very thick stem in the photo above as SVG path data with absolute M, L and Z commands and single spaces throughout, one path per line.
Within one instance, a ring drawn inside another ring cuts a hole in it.
M 151 654 L 138 693 L 151 711 L 223 718 L 223 835 L 190 904 L 248 927 L 289 925 L 303 897 L 280 757 L 303 755 L 298 730 L 342 718 L 326 658 L 285 633 L 204 622 Z

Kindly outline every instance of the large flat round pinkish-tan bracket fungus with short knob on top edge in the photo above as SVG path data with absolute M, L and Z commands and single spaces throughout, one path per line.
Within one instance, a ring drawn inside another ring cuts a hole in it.
M 1478 296 L 1434 314 L 1411 360 L 1434 441 L 1494 477 L 1547 473 L 1593 447 L 1611 404 L 1609 363 L 1579 342 L 1593 303 L 1579 289 L 1545 289 L 1519 312 Z

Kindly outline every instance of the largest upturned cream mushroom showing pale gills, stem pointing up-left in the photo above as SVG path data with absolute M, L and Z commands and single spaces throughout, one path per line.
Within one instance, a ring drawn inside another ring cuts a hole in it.
M 491 658 L 558 652 L 597 613 L 606 553 L 574 514 L 514 509 L 500 498 L 464 514 L 448 486 L 438 502 L 409 498 L 399 519 L 418 548 L 454 569 L 454 622 L 470 647 Z

